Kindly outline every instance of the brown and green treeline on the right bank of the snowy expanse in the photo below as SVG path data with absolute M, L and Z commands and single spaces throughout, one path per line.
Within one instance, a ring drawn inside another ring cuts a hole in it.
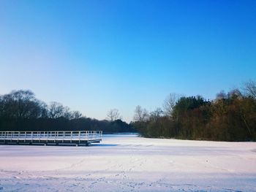
M 134 119 L 143 137 L 256 141 L 256 82 L 222 91 L 213 101 L 172 93 L 153 112 L 136 107 Z

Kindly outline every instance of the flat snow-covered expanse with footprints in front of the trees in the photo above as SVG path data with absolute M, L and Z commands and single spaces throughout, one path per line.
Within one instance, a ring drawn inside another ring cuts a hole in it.
M 256 191 L 256 143 L 106 135 L 90 147 L 0 145 L 0 191 Z

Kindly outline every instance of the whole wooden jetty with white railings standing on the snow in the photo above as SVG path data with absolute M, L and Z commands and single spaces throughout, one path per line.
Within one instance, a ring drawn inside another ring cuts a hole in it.
M 0 131 L 0 145 L 76 145 L 102 141 L 102 131 Z

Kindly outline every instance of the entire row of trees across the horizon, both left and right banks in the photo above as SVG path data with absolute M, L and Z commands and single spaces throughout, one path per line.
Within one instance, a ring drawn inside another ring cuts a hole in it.
M 171 93 L 163 107 L 148 112 L 136 107 L 134 122 L 121 120 L 118 110 L 107 120 L 84 117 L 58 102 L 39 101 L 31 91 L 12 91 L 0 96 L 0 131 L 102 130 L 105 133 L 135 132 L 143 137 L 256 141 L 256 82 L 241 89 L 202 96 Z

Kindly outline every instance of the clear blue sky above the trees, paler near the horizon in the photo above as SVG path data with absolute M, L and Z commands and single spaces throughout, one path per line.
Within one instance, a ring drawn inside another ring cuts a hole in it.
M 256 1 L 0 1 L 0 94 L 91 118 L 256 80 Z

